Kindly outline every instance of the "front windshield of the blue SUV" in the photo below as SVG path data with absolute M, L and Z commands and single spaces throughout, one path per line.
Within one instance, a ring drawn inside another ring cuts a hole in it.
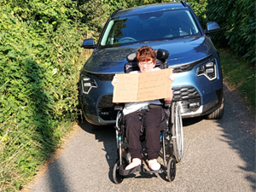
M 102 36 L 102 47 L 137 44 L 200 35 L 188 9 L 161 10 L 113 18 Z

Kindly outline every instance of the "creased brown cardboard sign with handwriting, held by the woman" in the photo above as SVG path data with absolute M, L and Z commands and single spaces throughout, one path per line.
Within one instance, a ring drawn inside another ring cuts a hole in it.
M 115 74 L 113 102 L 144 102 L 171 96 L 172 68 L 147 73 Z

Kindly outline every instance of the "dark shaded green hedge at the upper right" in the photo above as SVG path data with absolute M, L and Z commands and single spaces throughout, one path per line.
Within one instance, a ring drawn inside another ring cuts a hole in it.
M 222 46 L 229 45 L 236 54 L 255 61 L 255 2 L 208 1 L 207 21 L 216 21 L 221 27 L 213 37 L 216 42 L 221 42 Z

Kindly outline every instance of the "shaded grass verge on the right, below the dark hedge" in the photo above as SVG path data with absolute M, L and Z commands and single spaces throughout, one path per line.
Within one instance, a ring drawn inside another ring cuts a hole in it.
M 218 49 L 224 81 L 237 90 L 255 113 L 255 63 L 235 56 L 231 49 Z

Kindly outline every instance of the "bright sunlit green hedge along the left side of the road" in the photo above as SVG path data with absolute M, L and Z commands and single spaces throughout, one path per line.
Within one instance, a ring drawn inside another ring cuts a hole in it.
M 0 1 L 1 191 L 30 180 L 77 119 L 85 28 L 68 3 Z

